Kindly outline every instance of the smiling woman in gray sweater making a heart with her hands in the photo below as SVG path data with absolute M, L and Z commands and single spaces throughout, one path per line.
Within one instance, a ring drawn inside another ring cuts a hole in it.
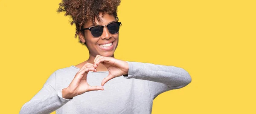
M 20 114 L 150 114 L 157 95 L 191 82 L 183 68 L 114 58 L 121 25 L 116 13 L 119 4 L 120 0 L 60 3 L 58 11 L 71 15 L 75 36 L 90 56 L 52 73 Z M 99 83 L 102 86 L 95 86 Z

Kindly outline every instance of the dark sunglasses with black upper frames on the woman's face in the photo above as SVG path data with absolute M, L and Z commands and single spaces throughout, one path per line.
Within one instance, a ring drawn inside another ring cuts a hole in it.
M 117 34 L 121 25 L 122 25 L 121 22 L 114 22 L 114 23 L 109 23 L 108 25 L 105 25 L 105 26 L 107 26 L 109 33 Z M 90 28 L 82 28 L 81 30 L 90 30 L 93 37 L 100 37 L 103 33 L 103 28 L 105 26 L 93 26 Z

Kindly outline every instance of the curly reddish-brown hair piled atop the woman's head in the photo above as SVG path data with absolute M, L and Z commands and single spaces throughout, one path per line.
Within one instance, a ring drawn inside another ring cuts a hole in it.
M 116 21 L 118 21 L 117 6 L 119 6 L 120 3 L 121 0 L 62 0 L 62 2 L 59 3 L 57 12 L 66 12 L 64 16 L 69 15 L 72 17 L 70 24 L 76 24 L 76 38 L 79 36 L 79 32 L 84 33 L 81 31 L 81 28 L 87 21 L 91 20 L 93 25 L 96 25 L 95 17 L 98 21 L 102 21 L 99 17 L 99 12 L 102 12 L 102 17 L 104 17 L 104 14 L 111 14 L 117 19 Z M 82 43 L 80 39 L 79 43 L 86 45 Z

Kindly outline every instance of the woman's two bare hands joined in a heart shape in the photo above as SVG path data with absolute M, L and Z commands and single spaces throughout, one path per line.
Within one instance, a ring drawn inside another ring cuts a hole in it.
M 87 91 L 104 90 L 102 86 L 105 85 L 105 83 L 107 83 L 109 80 L 128 74 L 128 62 L 123 60 L 97 55 L 93 63 L 94 64 L 85 63 L 82 68 L 80 68 L 74 79 L 71 81 L 70 85 L 63 89 L 62 96 L 64 98 L 70 99 Z M 89 71 L 96 72 L 96 68 L 100 63 L 108 69 L 109 74 L 102 80 L 102 86 L 91 86 L 87 83 L 87 74 Z

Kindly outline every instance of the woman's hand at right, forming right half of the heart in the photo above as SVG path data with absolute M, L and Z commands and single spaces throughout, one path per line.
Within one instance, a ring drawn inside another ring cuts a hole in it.
M 109 71 L 108 76 L 102 80 L 102 86 L 115 77 L 128 74 L 129 64 L 126 61 L 97 55 L 94 59 L 94 68 L 97 68 L 99 63 L 102 63 Z

